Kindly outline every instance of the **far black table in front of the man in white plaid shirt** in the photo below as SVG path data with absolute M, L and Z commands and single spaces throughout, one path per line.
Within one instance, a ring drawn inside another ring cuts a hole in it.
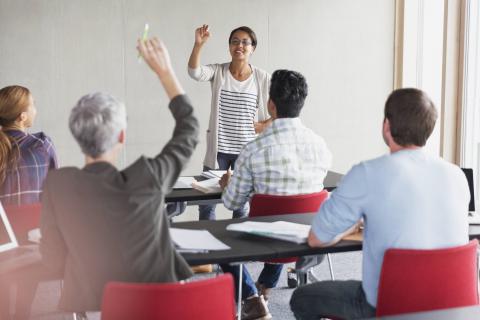
M 343 174 L 333 172 L 333 171 L 328 171 L 327 176 L 325 177 L 325 180 L 323 181 L 323 185 L 325 186 L 325 189 L 328 191 L 332 191 L 335 189 L 342 179 Z M 202 176 L 195 176 L 195 179 L 197 180 L 203 180 L 205 179 Z M 166 203 L 171 203 L 171 202 L 198 202 L 198 201 L 205 201 L 205 200 L 210 200 L 210 201 L 220 201 L 222 197 L 222 194 L 219 193 L 203 193 L 201 191 L 198 191 L 196 189 L 175 189 L 172 190 L 169 194 L 165 196 L 165 202 Z

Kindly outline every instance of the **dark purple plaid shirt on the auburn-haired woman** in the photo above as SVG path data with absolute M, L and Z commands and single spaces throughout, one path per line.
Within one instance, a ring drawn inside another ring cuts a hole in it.
M 17 166 L 7 171 L 0 188 L 0 201 L 3 205 L 40 202 L 48 170 L 58 167 L 52 141 L 43 132 L 29 134 L 9 130 L 5 133 L 17 141 L 20 157 Z

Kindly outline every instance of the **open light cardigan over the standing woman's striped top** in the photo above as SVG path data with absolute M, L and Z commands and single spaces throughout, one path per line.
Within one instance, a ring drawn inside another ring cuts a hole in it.
M 207 152 L 203 164 L 211 169 L 218 168 L 217 165 L 217 147 L 218 147 L 218 100 L 220 96 L 220 87 L 223 79 L 229 72 L 230 62 L 216 63 L 200 66 L 196 69 L 188 68 L 190 77 L 197 81 L 210 81 L 212 87 L 212 104 L 210 120 L 207 129 Z M 256 79 L 258 91 L 258 113 L 257 121 L 268 119 L 267 103 L 268 92 L 270 89 L 270 74 L 262 69 L 251 66 Z

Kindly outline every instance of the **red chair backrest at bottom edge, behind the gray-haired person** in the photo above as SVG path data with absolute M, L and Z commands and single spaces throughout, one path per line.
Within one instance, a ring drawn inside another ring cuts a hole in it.
M 102 320 L 232 320 L 233 290 L 230 274 L 187 283 L 109 282 Z

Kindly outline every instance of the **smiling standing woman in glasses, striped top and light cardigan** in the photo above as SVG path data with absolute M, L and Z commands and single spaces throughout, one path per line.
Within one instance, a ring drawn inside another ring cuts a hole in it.
M 208 25 L 195 30 L 195 44 L 188 60 L 188 74 L 197 81 L 210 81 L 212 102 L 207 130 L 204 170 L 235 169 L 243 146 L 271 123 L 267 102 L 270 75 L 249 63 L 257 36 L 249 27 L 238 27 L 228 38 L 232 61 L 200 64 L 200 52 L 210 37 Z M 217 166 L 218 163 L 218 166 Z M 243 207 L 233 217 L 247 214 Z M 215 206 L 199 206 L 200 220 L 214 220 Z

